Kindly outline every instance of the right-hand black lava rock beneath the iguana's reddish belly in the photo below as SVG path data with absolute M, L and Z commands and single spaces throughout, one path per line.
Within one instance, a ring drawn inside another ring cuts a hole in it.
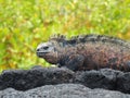
M 114 90 L 116 87 L 116 77 L 118 73 L 121 72 L 110 69 L 79 72 L 76 75 L 75 82 L 90 88 L 105 88 Z

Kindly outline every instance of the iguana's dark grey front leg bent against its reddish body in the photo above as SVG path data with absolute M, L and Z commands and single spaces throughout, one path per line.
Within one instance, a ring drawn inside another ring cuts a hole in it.
M 84 57 L 81 54 L 72 54 L 66 57 L 58 66 L 64 66 L 73 71 L 77 71 L 83 65 Z

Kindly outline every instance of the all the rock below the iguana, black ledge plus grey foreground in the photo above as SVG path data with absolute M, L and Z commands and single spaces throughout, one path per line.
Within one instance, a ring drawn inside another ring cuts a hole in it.
M 8 70 L 0 75 L 0 98 L 130 98 L 129 94 L 130 72 L 110 69 L 73 72 L 35 66 Z

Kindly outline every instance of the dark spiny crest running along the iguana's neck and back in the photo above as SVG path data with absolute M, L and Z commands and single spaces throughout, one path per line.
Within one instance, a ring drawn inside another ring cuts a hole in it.
M 108 42 L 108 44 L 115 44 L 122 47 L 130 48 L 130 42 L 125 41 L 120 38 L 116 37 L 109 37 L 104 35 L 79 35 L 79 36 L 72 36 L 69 39 L 66 39 L 64 35 L 54 35 L 50 38 L 50 40 L 55 40 L 57 42 L 63 42 L 63 45 L 77 45 L 77 44 L 86 44 L 86 42 Z

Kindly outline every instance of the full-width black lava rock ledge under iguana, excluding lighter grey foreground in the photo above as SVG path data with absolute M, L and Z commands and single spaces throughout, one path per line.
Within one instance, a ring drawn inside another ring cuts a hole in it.
M 31 70 L 6 70 L 0 75 L 1 91 L 5 88 L 25 91 L 58 84 L 80 84 L 92 89 L 102 88 L 130 94 L 130 72 L 110 69 L 73 72 L 65 68 L 35 66 Z

